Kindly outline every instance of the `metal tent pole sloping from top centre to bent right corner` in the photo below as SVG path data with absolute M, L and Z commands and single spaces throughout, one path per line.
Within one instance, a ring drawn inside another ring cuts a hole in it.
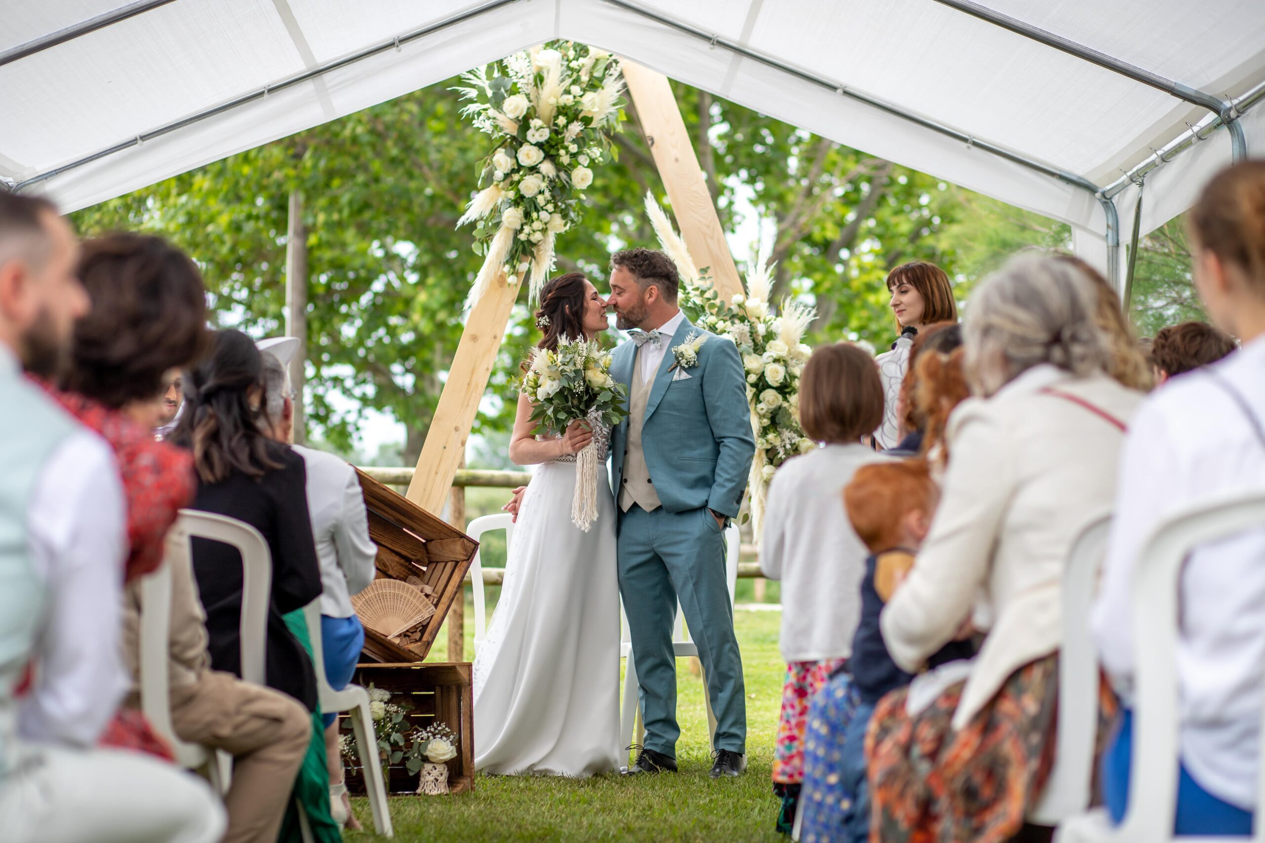
M 834 91 L 835 94 L 839 94 L 840 96 L 846 96 L 850 100 L 856 100 L 858 102 L 863 102 L 863 104 L 865 104 L 865 105 L 868 105 L 870 107 L 878 109 L 879 111 L 883 111 L 885 114 L 891 114 L 892 116 L 899 118 L 902 120 L 907 120 L 908 123 L 912 123 L 915 125 L 922 126 L 923 129 L 929 129 L 931 131 L 935 131 L 937 134 L 953 138 L 955 140 L 960 140 L 961 143 L 966 144 L 968 147 L 974 147 L 977 149 L 983 149 L 984 152 L 990 153 L 993 155 L 997 155 L 998 158 L 1003 158 L 1003 159 L 1011 162 L 1011 163 L 1018 164 L 1021 167 L 1026 167 L 1028 169 L 1032 169 L 1032 171 L 1036 171 L 1036 172 L 1042 173 L 1045 176 L 1049 176 L 1050 178 L 1056 178 L 1060 182 L 1064 182 L 1066 185 L 1071 185 L 1073 187 L 1079 187 L 1080 190 L 1087 191 L 1102 206 L 1103 214 L 1107 217 L 1106 235 L 1107 235 L 1107 246 L 1108 246 L 1108 249 L 1107 249 L 1107 254 L 1108 254 L 1108 259 L 1107 259 L 1108 260 L 1108 265 L 1107 265 L 1108 278 L 1112 282 L 1112 284 L 1116 284 L 1117 287 L 1120 286 L 1120 255 L 1118 255 L 1118 253 L 1120 253 L 1120 219 L 1118 219 L 1118 215 L 1116 212 L 1116 203 L 1111 198 L 1108 198 L 1107 196 L 1104 196 L 1103 192 L 1102 192 L 1102 190 L 1097 185 L 1094 185 L 1092 181 L 1089 181 L 1088 178 L 1085 178 L 1084 176 L 1077 176 L 1075 173 L 1069 173 L 1068 171 L 1059 169 L 1056 167 L 1051 167 L 1050 164 L 1041 163 L 1041 162 L 1039 162 L 1039 161 L 1036 161 L 1034 158 L 1028 158 L 1026 155 L 1021 155 L 1021 154 L 1018 154 L 1016 152 L 1012 152 L 1012 150 L 1006 149 L 1003 147 L 998 147 L 997 144 L 989 143 L 987 140 L 980 140 L 979 138 L 975 138 L 975 136 L 973 136 L 970 134 L 966 134 L 965 131 L 961 131 L 960 129 L 955 129 L 955 128 L 953 128 L 950 125 L 946 125 L 944 123 L 939 123 L 936 120 L 931 120 L 929 118 L 923 118 L 923 116 L 913 114 L 911 111 L 906 111 L 904 109 L 899 107 L 898 105 L 894 105 L 892 102 L 887 102 L 884 100 L 880 100 L 878 97 L 870 96 L 868 94 L 863 94 L 860 91 L 855 91 L 855 90 L 849 88 L 848 86 L 845 86 L 845 85 L 842 85 L 840 82 L 832 82 L 832 81 L 830 81 L 827 78 L 824 78 L 821 76 L 816 76 L 813 73 L 810 73 L 808 71 L 805 71 L 802 68 L 792 67 L 789 64 L 779 62 L 775 58 L 765 56 L 764 53 L 756 52 L 756 51 L 754 51 L 754 49 L 751 49 L 749 47 L 739 44 L 737 42 L 730 40 L 730 39 L 727 39 L 727 38 L 725 38 L 722 35 L 716 35 L 713 33 L 705 32 L 705 30 L 698 29 L 697 27 L 693 27 L 691 24 L 682 23 L 679 20 L 674 20 L 672 18 L 664 16 L 664 15 L 659 14 L 658 11 L 653 11 L 650 9 L 643 9 L 641 6 L 636 5 L 635 3 L 629 3 L 629 0 L 605 0 L 605 3 L 608 3 L 612 6 L 617 6 L 620 9 L 624 9 L 625 11 L 631 11 L 632 14 L 640 15 L 640 16 L 646 18 L 649 20 L 653 20 L 653 21 L 655 21 L 655 23 L 658 23 L 658 24 L 660 24 L 663 27 L 668 27 L 669 29 L 674 29 L 674 30 L 677 30 L 679 33 L 684 33 L 687 35 L 692 35 L 692 37 L 698 38 L 701 40 L 706 40 L 712 47 L 722 47 L 722 48 L 727 49 L 731 53 L 741 56 L 743 58 L 749 58 L 753 62 L 759 62 L 760 64 L 764 64 L 765 67 L 772 67 L 775 71 L 781 71 L 781 72 L 783 72 L 783 73 L 786 73 L 788 76 L 793 76 L 794 78 L 801 80 L 803 82 L 808 82 L 810 85 L 816 85 L 817 87 L 826 88 L 827 91 Z

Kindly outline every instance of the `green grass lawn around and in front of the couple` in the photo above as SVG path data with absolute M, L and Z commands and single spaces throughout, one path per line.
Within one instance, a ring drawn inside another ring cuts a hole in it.
M 741 604 L 743 595 L 739 595 Z M 472 612 L 466 613 L 466 656 L 473 657 Z M 398 840 L 781 840 L 773 830 L 778 801 L 770 773 L 784 664 L 778 653 L 779 612 L 739 609 L 737 641 L 746 679 L 748 770 L 712 781 L 703 688 L 691 660 L 678 660 L 681 741 L 678 775 L 596 776 L 588 780 L 478 776 L 460 796 L 391 800 Z M 444 661 L 440 632 L 428 661 Z M 353 800 L 372 828 L 368 801 Z M 348 840 L 376 840 L 371 832 Z

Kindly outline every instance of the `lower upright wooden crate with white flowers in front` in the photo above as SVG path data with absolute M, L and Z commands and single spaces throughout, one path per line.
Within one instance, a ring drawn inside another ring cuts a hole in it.
M 406 715 L 407 737 L 415 728 L 443 723 L 457 733 L 457 757 L 448 762 L 448 786 L 454 794 L 474 787 L 474 694 L 469 662 L 409 662 L 402 665 L 364 664 L 355 669 L 357 685 L 391 691 L 412 705 Z M 340 717 L 347 717 L 340 715 Z M 350 734 L 350 731 L 344 733 Z M 347 763 L 347 787 L 364 792 L 361 768 Z M 388 794 L 412 794 L 417 790 L 417 773 L 410 773 L 401 761 L 390 768 Z

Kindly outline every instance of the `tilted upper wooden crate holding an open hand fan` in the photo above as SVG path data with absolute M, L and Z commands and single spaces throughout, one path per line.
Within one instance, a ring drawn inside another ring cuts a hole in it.
M 430 514 L 404 495 L 357 469 L 369 511 L 369 537 L 378 546 L 378 578 L 417 578 L 433 589 L 435 614 L 415 631 L 421 638 L 402 645 L 364 628 L 364 657 L 386 664 L 421 661 L 454 600 L 463 599 L 462 581 L 478 542 Z

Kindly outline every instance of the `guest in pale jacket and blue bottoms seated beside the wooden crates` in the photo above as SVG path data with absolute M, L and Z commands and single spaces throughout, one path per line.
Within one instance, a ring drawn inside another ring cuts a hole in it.
M 264 340 L 267 341 L 267 340 Z M 293 354 L 299 340 L 285 349 Z M 263 343 L 259 344 L 263 346 Z M 278 353 L 282 348 L 272 346 Z M 264 408 L 268 435 L 278 442 L 291 442 L 295 435 L 293 393 L 281 354 L 263 351 Z M 320 559 L 321 652 L 325 680 L 334 690 L 347 688 L 355 674 L 364 647 L 364 627 L 352 608 L 352 594 L 359 594 L 377 574 L 374 560 L 378 546 L 369 538 L 364 492 L 355 469 L 333 454 L 291 445 L 307 468 L 307 511 L 312 519 L 316 556 Z M 326 712 L 325 758 L 329 765 L 330 811 L 334 820 L 357 829 L 352 815 L 347 785 L 343 784 L 343 757 L 339 752 L 338 715 Z

